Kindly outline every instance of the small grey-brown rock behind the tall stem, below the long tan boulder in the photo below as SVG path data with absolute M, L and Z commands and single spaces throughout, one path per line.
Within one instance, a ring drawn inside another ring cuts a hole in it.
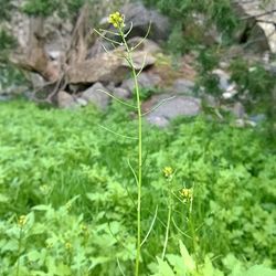
M 153 88 L 161 82 L 159 75 L 153 73 L 142 72 L 138 77 L 138 83 L 141 88 Z M 121 84 L 121 88 L 127 89 L 132 94 L 135 89 L 135 82 L 132 78 L 125 79 Z

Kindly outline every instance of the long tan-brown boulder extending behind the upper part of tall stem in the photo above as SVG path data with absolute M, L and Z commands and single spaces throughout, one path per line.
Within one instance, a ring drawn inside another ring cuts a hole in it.
M 98 54 L 94 59 L 76 63 L 67 70 L 70 84 L 93 84 L 110 83 L 118 84 L 126 78 L 129 73 L 127 62 L 120 57 L 124 54 L 120 50 L 110 53 Z M 144 51 L 134 52 L 132 59 L 136 70 L 140 70 L 146 53 Z M 146 66 L 152 65 L 156 59 L 147 55 Z

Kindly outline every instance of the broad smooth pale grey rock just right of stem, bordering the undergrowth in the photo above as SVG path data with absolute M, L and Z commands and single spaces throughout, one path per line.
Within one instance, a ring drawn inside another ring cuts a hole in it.
M 158 108 L 147 115 L 147 120 L 157 126 L 166 126 L 168 125 L 167 120 L 169 121 L 180 116 L 197 116 L 201 112 L 201 100 L 194 97 L 174 96 L 172 98 L 169 94 L 162 94 L 155 96 L 150 102 L 146 112 L 163 102 Z

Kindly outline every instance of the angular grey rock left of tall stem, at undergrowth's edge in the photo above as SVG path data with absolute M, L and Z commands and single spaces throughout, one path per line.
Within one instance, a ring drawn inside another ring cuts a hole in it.
M 87 100 L 88 103 L 93 103 L 99 109 L 105 110 L 108 107 L 112 98 L 100 91 L 107 89 L 105 86 L 103 86 L 103 84 L 95 83 L 88 89 L 83 92 L 82 98 Z

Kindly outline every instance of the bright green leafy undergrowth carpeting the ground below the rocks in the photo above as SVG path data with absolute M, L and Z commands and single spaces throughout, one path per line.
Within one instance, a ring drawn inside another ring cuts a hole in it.
M 136 142 L 100 126 L 135 136 L 118 106 L 0 105 L 0 275 L 132 275 Z M 144 131 L 141 275 L 275 275 L 276 155 L 262 128 L 198 118 Z

